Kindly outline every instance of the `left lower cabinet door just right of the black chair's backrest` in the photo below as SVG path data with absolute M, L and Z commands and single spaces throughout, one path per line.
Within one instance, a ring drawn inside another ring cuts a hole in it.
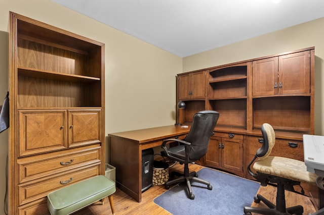
M 212 136 L 209 145 L 208 151 L 205 156 L 204 163 L 209 167 L 220 167 L 221 166 L 221 147 L 222 142 L 221 137 Z

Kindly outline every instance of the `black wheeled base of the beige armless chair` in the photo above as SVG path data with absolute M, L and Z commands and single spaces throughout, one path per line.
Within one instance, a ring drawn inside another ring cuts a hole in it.
M 244 214 L 251 214 L 252 212 L 254 213 L 259 213 L 259 214 L 267 214 L 267 215 L 272 215 L 272 214 L 296 214 L 296 215 L 303 215 L 304 208 L 301 205 L 293 206 L 293 207 L 288 207 L 285 209 L 279 209 L 276 207 L 275 204 L 270 202 L 268 199 L 264 198 L 262 195 L 257 194 L 254 197 L 254 201 L 256 203 L 259 203 L 262 201 L 265 203 L 269 208 L 261 208 L 261 207 L 244 207 Z M 280 211 L 281 210 L 281 211 Z

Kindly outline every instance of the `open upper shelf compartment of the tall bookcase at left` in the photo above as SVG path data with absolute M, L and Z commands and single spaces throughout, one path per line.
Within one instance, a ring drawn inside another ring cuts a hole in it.
M 19 19 L 17 25 L 18 108 L 102 105 L 102 43 Z

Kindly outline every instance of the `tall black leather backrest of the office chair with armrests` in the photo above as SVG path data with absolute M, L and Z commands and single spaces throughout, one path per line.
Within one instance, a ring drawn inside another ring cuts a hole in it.
M 218 117 L 219 113 L 216 111 L 200 111 L 193 115 L 190 131 L 184 139 L 191 143 L 190 160 L 199 159 L 207 153 Z

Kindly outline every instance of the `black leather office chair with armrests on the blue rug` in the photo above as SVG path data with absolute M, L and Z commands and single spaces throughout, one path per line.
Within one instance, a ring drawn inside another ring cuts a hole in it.
M 206 184 L 209 190 L 212 185 L 205 180 L 198 179 L 195 172 L 189 173 L 188 164 L 195 162 L 205 156 L 208 149 L 210 137 L 214 132 L 219 113 L 216 111 L 200 111 L 193 115 L 193 121 L 190 131 L 184 140 L 167 139 L 163 141 L 161 147 L 164 149 L 164 155 L 171 160 L 176 160 L 180 164 L 184 164 L 184 175 L 166 183 L 169 189 L 171 184 L 186 182 L 190 199 L 194 199 L 191 189 L 191 182 L 199 182 Z M 167 148 L 168 142 L 178 142 L 179 145 Z

